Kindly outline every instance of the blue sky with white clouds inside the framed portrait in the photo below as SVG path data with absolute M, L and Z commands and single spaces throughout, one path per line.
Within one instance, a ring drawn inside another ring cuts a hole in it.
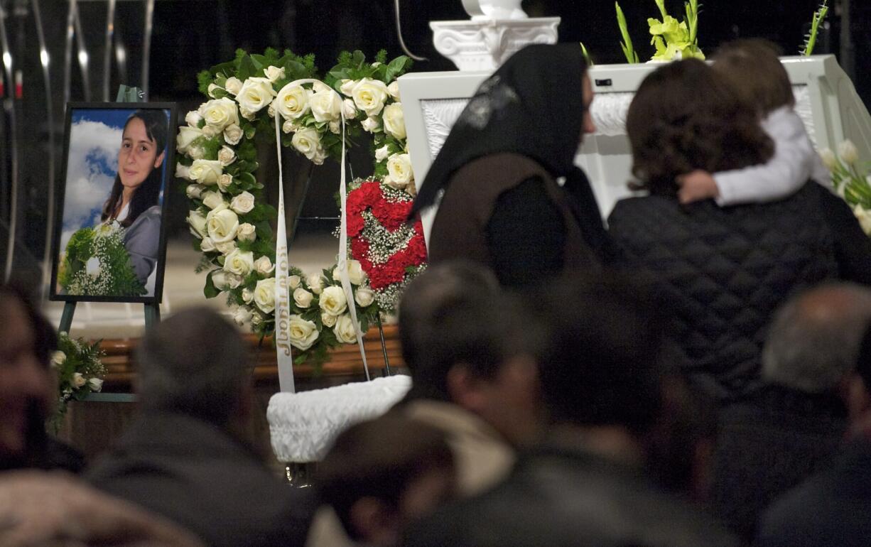
M 71 112 L 60 248 L 72 233 L 95 226 L 118 172 L 118 150 L 134 109 L 77 108 Z M 168 111 L 167 111 L 168 116 Z M 167 162 L 163 165 L 163 175 Z M 160 199 L 163 199 L 161 192 Z

